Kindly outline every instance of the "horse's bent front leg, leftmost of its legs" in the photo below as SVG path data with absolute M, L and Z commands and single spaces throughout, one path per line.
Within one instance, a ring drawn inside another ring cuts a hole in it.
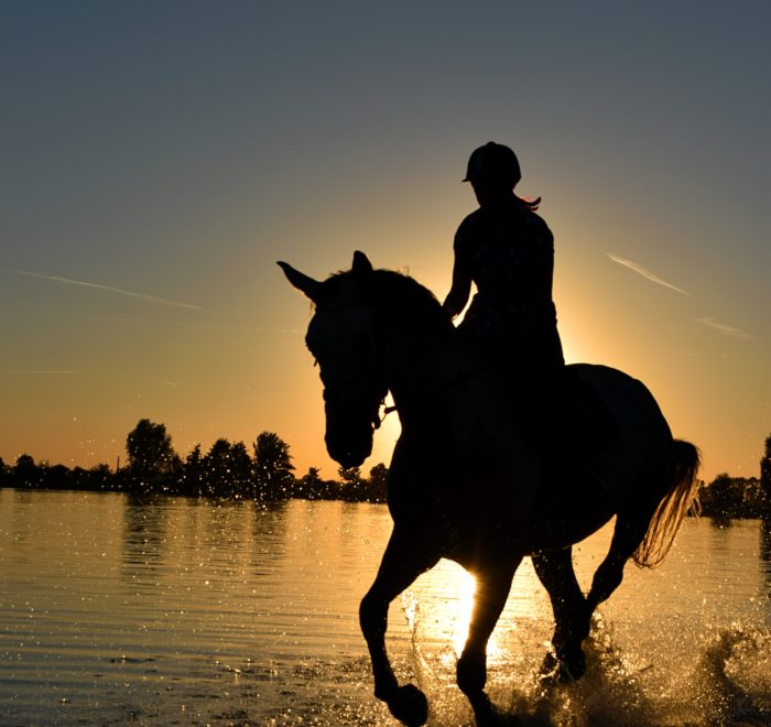
M 422 725 L 428 718 L 425 695 L 416 686 L 399 686 L 386 651 L 389 604 L 421 573 L 436 565 L 438 555 L 421 546 L 419 538 L 394 529 L 380 569 L 359 607 L 359 622 L 372 660 L 374 696 L 388 704 L 391 714 L 405 725 Z

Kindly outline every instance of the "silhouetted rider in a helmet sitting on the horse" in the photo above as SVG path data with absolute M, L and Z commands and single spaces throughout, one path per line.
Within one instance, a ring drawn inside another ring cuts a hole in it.
M 541 198 L 514 194 L 520 178 L 508 147 L 490 141 L 473 152 L 464 182 L 470 182 L 479 209 L 455 234 L 453 284 L 444 307 L 455 318 L 476 284 L 458 329 L 513 384 L 530 416 L 544 421 L 565 366 L 552 301 L 554 238 L 535 214 Z

